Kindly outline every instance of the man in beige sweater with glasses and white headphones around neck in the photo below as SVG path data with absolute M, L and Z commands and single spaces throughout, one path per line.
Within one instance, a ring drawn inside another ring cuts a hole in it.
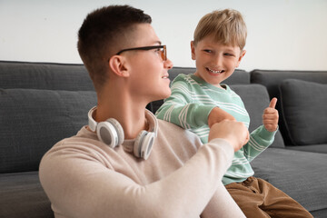
M 97 106 L 40 163 L 55 217 L 244 217 L 221 182 L 247 142 L 244 124 L 214 124 L 202 145 L 145 110 L 171 94 L 165 49 L 142 10 L 111 5 L 85 18 L 78 51 Z

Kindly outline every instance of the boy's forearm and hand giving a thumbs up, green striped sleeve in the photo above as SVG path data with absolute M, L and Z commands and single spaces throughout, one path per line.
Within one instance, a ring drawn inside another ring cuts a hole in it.
M 259 126 L 250 134 L 250 140 L 244 145 L 245 157 L 251 162 L 273 143 L 274 135 L 278 130 L 277 98 L 272 98 L 269 106 L 263 111 L 263 125 Z

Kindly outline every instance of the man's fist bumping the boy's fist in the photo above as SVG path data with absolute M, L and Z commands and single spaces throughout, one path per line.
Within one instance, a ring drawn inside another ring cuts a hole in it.
M 242 122 L 223 120 L 210 128 L 208 142 L 215 138 L 226 140 L 237 152 L 249 141 L 249 131 Z

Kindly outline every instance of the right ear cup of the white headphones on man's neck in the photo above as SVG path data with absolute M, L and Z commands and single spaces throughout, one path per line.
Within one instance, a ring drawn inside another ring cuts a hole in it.
M 154 137 L 153 132 L 141 131 L 134 142 L 134 155 L 144 160 L 148 159 L 154 145 Z

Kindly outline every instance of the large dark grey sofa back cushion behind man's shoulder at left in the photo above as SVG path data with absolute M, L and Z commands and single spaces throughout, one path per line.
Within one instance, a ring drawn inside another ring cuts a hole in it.
M 87 124 L 93 91 L 0 89 L 0 173 L 37 171 L 45 152 Z

